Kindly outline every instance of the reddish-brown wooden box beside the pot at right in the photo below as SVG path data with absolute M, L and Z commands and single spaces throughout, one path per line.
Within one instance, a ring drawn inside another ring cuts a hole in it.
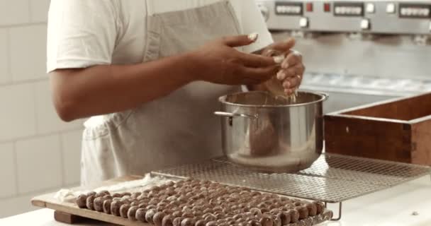
M 325 115 L 325 151 L 431 165 L 431 93 Z

